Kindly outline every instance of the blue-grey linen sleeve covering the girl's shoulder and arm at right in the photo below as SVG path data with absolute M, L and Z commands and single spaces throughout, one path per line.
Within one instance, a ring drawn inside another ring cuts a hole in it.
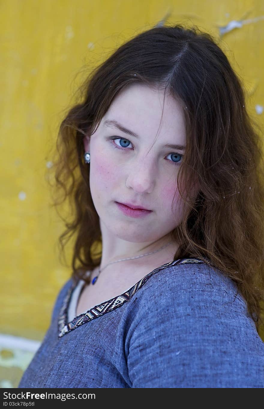
M 172 263 L 133 298 L 126 337 L 133 387 L 263 387 L 264 343 L 221 271 Z

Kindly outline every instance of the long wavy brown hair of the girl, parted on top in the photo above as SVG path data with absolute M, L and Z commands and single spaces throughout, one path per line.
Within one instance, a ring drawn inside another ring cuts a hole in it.
M 186 209 L 173 229 L 174 260 L 197 257 L 221 270 L 246 300 L 259 331 L 264 300 L 264 166 L 260 127 L 249 117 L 242 81 L 217 41 L 197 26 L 153 27 L 122 44 L 90 72 L 79 102 L 60 124 L 48 178 L 52 204 L 70 205 L 59 237 L 74 240 L 72 278 L 100 264 L 99 216 L 84 163 L 83 137 L 92 135 L 113 99 L 132 83 L 161 87 L 184 108 L 186 150 L 177 175 Z M 52 182 L 52 180 L 54 182 Z M 195 198 L 181 189 L 199 184 Z M 61 193 L 62 194 L 61 194 Z

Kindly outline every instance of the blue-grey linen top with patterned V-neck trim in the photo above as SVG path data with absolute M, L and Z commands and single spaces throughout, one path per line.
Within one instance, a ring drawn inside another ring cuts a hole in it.
M 264 342 L 246 302 L 202 260 L 166 263 L 75 317 L 81 286 L 70 278 L 59 291 L 18 388 L 264 387 Z

